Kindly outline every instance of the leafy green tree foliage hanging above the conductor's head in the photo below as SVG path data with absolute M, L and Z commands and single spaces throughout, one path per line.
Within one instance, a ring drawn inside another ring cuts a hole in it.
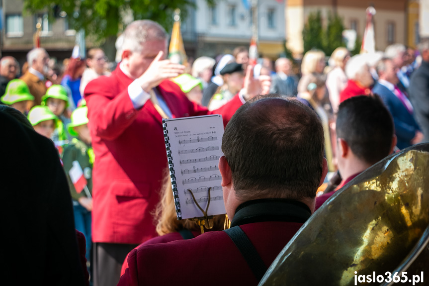
M 213 4 L 214 0 L 207 2 Z M 195 7 L 193 0 L 24 0 L 25 10 L 46 10 L 50 19 L 66 12 L 72 28 L 85 29 L 86 35 L 96 40 L 115 39 L 124 24 L 139 19 L 157 21 L 170 31 L 174 9 L 179 8 L 185 19 L 189 7 Z

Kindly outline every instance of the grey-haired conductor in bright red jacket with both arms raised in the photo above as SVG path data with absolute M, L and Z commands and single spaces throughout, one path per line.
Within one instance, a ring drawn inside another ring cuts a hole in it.
M 85 88 L 95 153 L 94 286 L 116 285 L 128 252 L 157 236 L 151 212 L 168 170 L 162 118 L 222 114 L 226 124 L 239 106 L 268 93 L 270 85 L 269 77 L 254 79 L 250 69 L 244 89 L 208 112 L 168 80 L 183 73 L 184 66 L 165 59 L 168 36 L 162 26 L 134 21 L 123 37 L 116 70 Z

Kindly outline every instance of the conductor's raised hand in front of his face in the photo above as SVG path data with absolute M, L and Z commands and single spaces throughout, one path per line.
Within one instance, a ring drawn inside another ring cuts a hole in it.
M 162 81 L 181 75 L 185 69 L 183 65 L 174 64 L 170 60 L 163 60 L 163 57 L 164 52 L 160 51 L 148 69 L 138 79 L 142 89 L 147 93 Z

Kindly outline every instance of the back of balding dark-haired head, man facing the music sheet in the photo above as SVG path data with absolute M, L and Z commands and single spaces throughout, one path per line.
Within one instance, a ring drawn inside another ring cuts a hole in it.
M 323 128 L 301 102 L 268 95 L 240 107 L 225 129 L 222 151 L 236 196 L 314 198 L 323 170 Z

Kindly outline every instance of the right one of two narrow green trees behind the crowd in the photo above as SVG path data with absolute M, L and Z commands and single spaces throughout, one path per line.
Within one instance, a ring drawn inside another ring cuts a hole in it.
M 330 56 L 338 47 L 345 47 L 343 18 L 337 13 L 328 13 L 328 24 L 323 37 L 323 51 Z

